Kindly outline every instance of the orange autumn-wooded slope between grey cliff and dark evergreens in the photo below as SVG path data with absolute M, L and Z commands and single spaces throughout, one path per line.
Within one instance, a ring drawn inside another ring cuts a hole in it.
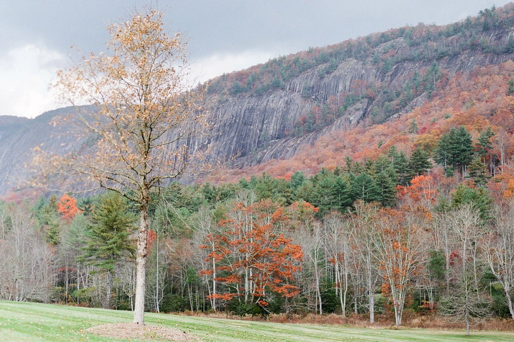
M 513 82 L 514 62 L 459 72 L 451 79 L 448 75 L 445 73 L 438 81 L 438 90 L 430 99 L 405 115 L 395 115 L 382 124 L 373 124 L 368 118 L 355 128 L 335 130 L 313 144 L 300 146 L 287 160 L 272 159 L 234 170 L 223 180 L 236 181 L 262 172 L 271 176 L 284 176 L 296 170 L 315 174 L 322 167 L 345 165 L 347 156 L 360 162 L 374 160 L 386 154 L 392 145 L 408 154 L 417 146 L 433 151 L 443 133 L 460 125 L 466 127 L 473 139 L 491 126 L 496 134 L 491 151 L 495 159 L 503 155 L 506 163 L 514 154 L 514 89 L 509 86 Z M 413 122 L 419 129 L 409 132 Z M 496 166 L 501 166 L 500 161 Z

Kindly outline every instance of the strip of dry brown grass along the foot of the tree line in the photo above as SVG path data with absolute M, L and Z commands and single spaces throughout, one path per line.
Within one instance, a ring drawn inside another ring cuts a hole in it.
M 351 315 L 350 317 L 342 317 L 336 314 L 317 315 L 313 313 L 298 315 L 298 314 L 270 314 L 266 317 L 263 316 L 237 316 L 223 312 L 205 313 L 205 312 L 192 312 L 185 311 L 177 313 L 178 315 L 195 316 L 195 317 L 209 317 L 209 318 L 224 318 L 224 319 L 242 319 L 251 321 L 268 321 L 274 323 L 296 323 L 296 324 L 309 324 L 309 325 L 345 325 L 354 327 L 366 328 L 392 328 L 394 326 L 394 316 L 392 314 L 375 314 L 375 324 L 371 325 L 369 316 L 366 315 Z M 445 317 L 439 315 L 419 315 L 411 311 L 406 311 L 403 315 L 403 328 L 422 328 L 422 329 L 436 329 L 446 331 L 457 331 L 465 328 L 464 323 L 452 322 Z M 473 330 L 479 331 L 514 331 L 513 319 L 488 319 L 483 320 L 476 325 Z

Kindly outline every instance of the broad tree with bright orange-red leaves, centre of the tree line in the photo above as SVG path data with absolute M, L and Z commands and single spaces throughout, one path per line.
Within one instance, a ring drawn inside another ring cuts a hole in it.
M 219 299 L 244 297 L 249 305 L 268 305 L 272 292 L 290 298 L 299 293 L 293 284 L 293 274 L 300 270 L 303 258 L 301 248 L 285 236 L 290 220 L 285 210 L 271 200 L 235 204 L 233 210 L 219 222 L 221 233 L 207 236 L 211 253 L 219 274 L 216 282 L 225 284 L 225 293 Z M 202 274 L 212 274 L 204 270 Z

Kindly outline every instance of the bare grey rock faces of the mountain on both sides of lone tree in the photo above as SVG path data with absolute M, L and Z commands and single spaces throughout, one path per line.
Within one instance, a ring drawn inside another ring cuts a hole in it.
M 489 40 L 506 42 L 511 29 L 495 32 Z M 383 53 L 389 47 L 396 54 L 407 54 L 412 49 L 402 38 L 378 46 L 375 53 Z M 373 55 L 373 53 L 370 53 Z M 486 53 L 482 49 L 469 49 L 437 60 L 439 68 L 454 75 L 477 67 L 495 65 L 512 59 L 512 53 Z M 366 61 L 345 59 L 335 71 L 321 75 L 325 65 L 307 70 L 289 79 L 282 89 L 265 91 L 259 95 L 238 94 L 227 96 L 212 108 L 212 115 L 221 119 L 215 135 L 208 141 L 214 153 L 212 160 L 237 156 L 238 167 L 259 164 L 270 159 L 289 158 L 300 146 L 313 143 L 321 136 L 334 130 L 348 129 L 357 125 L 369 115 L 371 108 L 380 100 L 377 97 L 363 97 L 344 112 L 335 122 L 321 129 L 295 136 L 295 123 L 309 115 L 315 104 L 324 104 L 331 97 L 352 91 L 356 80 L 369 84 L 381 84 L 383 88 L 399 89 L 412 78 L 414 71 L 423 73 L 433 59 L 403 61 L 383 72 L 373 64 L 371 57 Z M 307 94 L 307 95 L 306 95 Z M 423 103 L 425 95 L 414 99 L 399 111 L 406 112 Z M 0 116 L 0 194 L 21 183 L 27 177 L 24 165 L 31 159 L 31 148 L 42 145 L 54 153 L 76 148 L 81 142 L 66 135 L 59 127 L 49 125 L 52 117 L 70 112 L 71 108 L 49 111 L 29 120 Z M 194 142 L 195 144 L 199 142 Z

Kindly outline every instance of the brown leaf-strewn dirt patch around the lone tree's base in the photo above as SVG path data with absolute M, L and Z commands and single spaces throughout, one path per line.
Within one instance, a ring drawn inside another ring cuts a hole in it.
M 144 325 L 134 323 L 115 323 L 91 327 L 84 332 L 104 337 L 155 339 L 163 341 L 196 341 L 198 338 L 189 335 L 185 331 L 173 328 Z

